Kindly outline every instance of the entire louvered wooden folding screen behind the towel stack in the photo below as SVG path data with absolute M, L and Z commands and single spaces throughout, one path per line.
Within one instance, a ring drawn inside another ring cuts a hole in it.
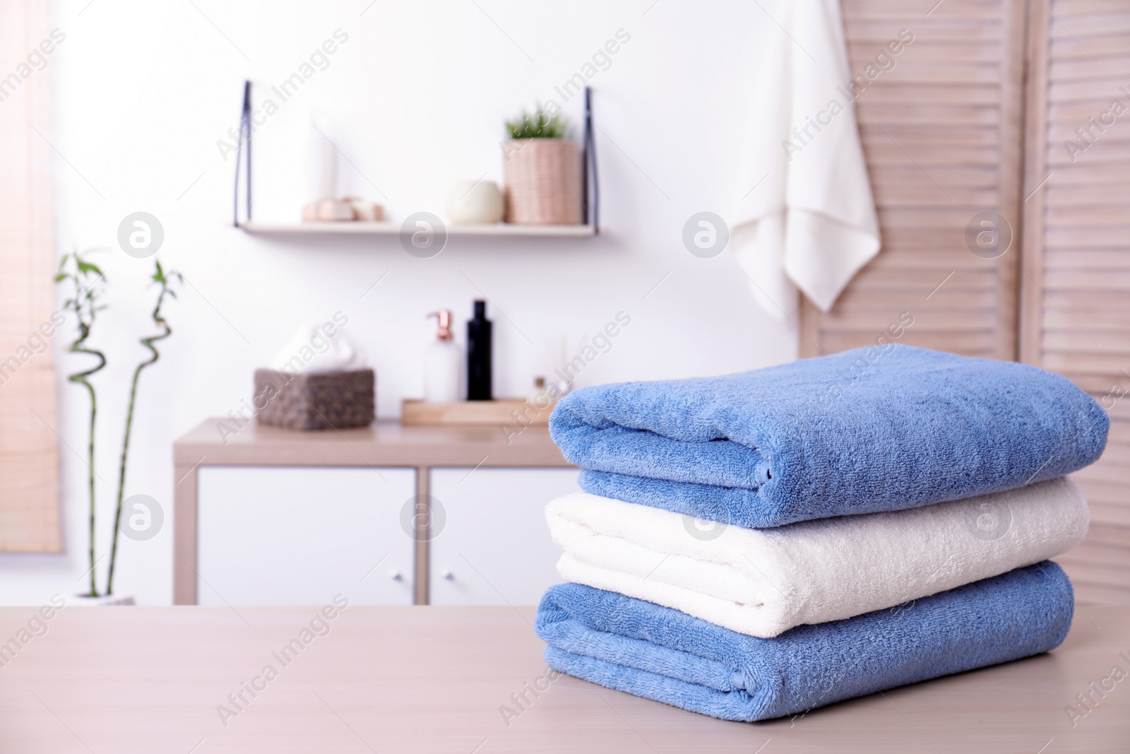
M 935 2 L 843 0 L 853 71 L 902 28 L 914 42 L 855 103 L 883 251 L 831 312 L 806 303 L 800 353 L 909 317 L 902 343 L 1087 390 L 1111 439 L 1075 475 L 1087 541 L 1057 560 L 1080 601 L 1130 601 L 1130 0 Z

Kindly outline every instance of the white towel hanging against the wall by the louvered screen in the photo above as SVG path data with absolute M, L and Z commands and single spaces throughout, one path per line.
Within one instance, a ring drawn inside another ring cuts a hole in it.
M 838 0 L 765 3 L 771 29 L 731 248 L 754 296 L 792 318 L 799 288 L 828 311 L 879 251 L 879 224 L 849 87 Z

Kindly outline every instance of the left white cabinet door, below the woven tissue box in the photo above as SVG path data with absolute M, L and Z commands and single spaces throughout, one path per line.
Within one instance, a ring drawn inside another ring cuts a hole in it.
M 411 605 L 412 469 L 201 467 L 200 605 Z

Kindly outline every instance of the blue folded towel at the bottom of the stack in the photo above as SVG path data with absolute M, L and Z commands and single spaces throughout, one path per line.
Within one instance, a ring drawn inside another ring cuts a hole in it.
M 763 720 L 1046 652 L 1067 636 L 1072 606 L 1071 582 L 1045 561 L 776 639 L 557 584 L 534 630 L 555 670 L 715 718 Z

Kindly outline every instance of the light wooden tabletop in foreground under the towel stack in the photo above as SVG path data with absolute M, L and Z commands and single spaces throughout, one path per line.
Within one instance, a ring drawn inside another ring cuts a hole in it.
M 516 707 L 546 673 L 530 607 L 347 607 L 305 636 L 319 608 L 66 607 L 3 656 L 0 752 L 1124 753 L 1130 679 L 1090 684 L 1130 671 L 1130 607 L 1084 610 L 1049 655 L 740 723 L 568 676 Z M 33 615 L 0 609 L 0 640 Z

